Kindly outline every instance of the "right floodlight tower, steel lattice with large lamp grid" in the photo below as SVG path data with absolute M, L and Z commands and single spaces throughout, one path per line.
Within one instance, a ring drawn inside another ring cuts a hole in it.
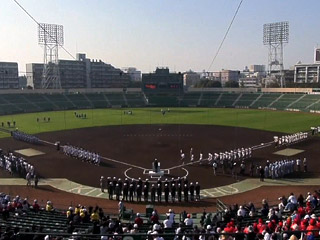
M 263 44 L 269 48 L 268 73 L 279 73 L 280 85 L 283 82 L 283 45 L 289 42 L 289 22 L 276 22 L 263 25 Z

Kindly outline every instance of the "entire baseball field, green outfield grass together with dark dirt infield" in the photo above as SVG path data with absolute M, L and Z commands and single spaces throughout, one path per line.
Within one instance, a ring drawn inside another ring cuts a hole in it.
M 8 122 L 10 122 L 10 127 Z M 161 161 L 164 169 L 170 169 L 166 177 L 188 176 L 190 181 L 199 181 L 202 188 L 206 189 L 203 196 L 223 197 L 235 189 L 240 193 L 242 185 L 246 183 L 242 184 L 241 180 L 249 178 L 248 171 L 245 176 L 239 176 L 238 179 L 232 178 L 229 172 L 223 174 L 218 171 L 213 181 L 210 166 L 187 164 L 181 167 L 180 149 L 188 153 L 190 147 L 193 147 L 196 158 L 200 151 L 206 157 L 208 152 L 223 152 L 238 147 L 255 146 L 273 141 L 275 135 L 308 131 L 310 127 L 320 125 L 320 118 L 317 114 L 303 112 L 252 109 L 109 108 L 5 115 L 0 116 L 0 124 L 2 123 L 4 129 L 17 128 L 29 134 L 37 134 L 40 139 L 49 143 L 30 145 L 13 138 L 6 138 L 9 137 L 9 134 L 0 131 L 2 149 L 16 151 L 31 147 L 33 150 L 42 152 L 42 155 L 28 158 L 28 161 L 36 167 L 41 178 L 73 181 L 75 186 L 68 183 L 58 189 L 69 193 L 76 191 L 77 194 L 95 197 L 94 201 L 98 201 L 98 198 L 106 198 L 97 188 L 100 176 L 116 176 L 123 179 L 125 177 L 146 178 L 148 176 L 144 172 L 151 168 L 154 158 Z M 55 141 L 61 141 L 62 145 L 69 143 L 98 152 L 104 157 L 101 166 L 87 164 L 57 152 L 51 145 Z M 290 178 L 313 177 L 317 179 L 320 174 L 316 157 L 319 155 L 317 147 L 319 141 L 319 137 L 315 136 L 290 146 L 291 150 L 299 152 L 292 156 L 276 154 L 276 151 L 281 149 L 274 149 L 273 146 L 260 148 L 254 151 L 250 162 L 259 166 L 265 164 L 267 159 L 275 161 L 288 157 L 292 159 L 307 157 L 308 167 L 311 170 L 308 176 L 294 174 Z M 84 169 L 86 169 L 86 174 L 79 174 Z M 0 177 L 10 176 L 0 171 Z M 233 190 L 231 191 L 229 187 L 231 185 L 228 184 L 237 184 L 239 180 L 242 185 L 232 185 Z M 249 179 L 249 181 L 256 180 Z M 283 184 L 288 185 L 289 183 L 284 182 Z M 46 183 L 43 182 L 43 184 Z M 278 182 L 270 184 L 278 184 Z M 252 186 L 252 182 L 248 186 Z M 259 182 L 255 187 L 256 193 L 258 193 L 258 186 L 260 186 Z M 14 189 L 10 187 L 10 191 Z M 25 190 L 28 195 L 28 189 Z M 286 190 L 291 191 L 292 188 L 286 188 Z M 19 191 L 22 190 L 19 189 Z M 248 189 L 242 191 L 248 191 L 248 194 L 251 194 Z M 261 189 L 261 194 L 263 191 Z M 268 194 L 270 193 L 266 193 L 266 198 L 271 197 Z M 40 198 L 40 196 L 37 197 Z M 254 200 L 260 199 L 261 196 L 257 194 Z M 75 195 L 74 198 L 76 199 L 77 196 Z M 64 199 L 68 202 L 70 196 Z M 106 202 L 105 206 L 109 206 L 108 204 Z M 207 202 L 203 204 L 208 205 Z

